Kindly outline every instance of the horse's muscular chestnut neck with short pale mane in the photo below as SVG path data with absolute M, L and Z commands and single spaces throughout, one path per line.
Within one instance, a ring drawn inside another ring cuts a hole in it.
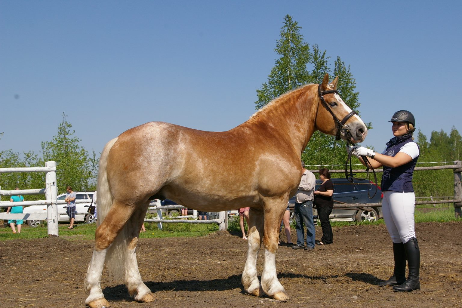
M 287 139 L 301 153 L 315 131 L 318 102 L 312 86 L 306 85 L 277 98 L 243 125 L 258 127 L 271 134 L 279 132 L 280 138 Z

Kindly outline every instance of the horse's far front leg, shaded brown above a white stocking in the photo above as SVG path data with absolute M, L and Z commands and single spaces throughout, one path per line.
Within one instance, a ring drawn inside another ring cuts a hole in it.
M 245 261 L 241 282 L 244 291 L 255 296 L 262 296 L 265 294 L 261 289 L 256 267 L 257 255 L 260 250 L 263 236 L 263 220 L 264 216 L 262 210 L 250 209 L 249 235 L 247 236 L 249 248 L 247 250 L 247 260 Z

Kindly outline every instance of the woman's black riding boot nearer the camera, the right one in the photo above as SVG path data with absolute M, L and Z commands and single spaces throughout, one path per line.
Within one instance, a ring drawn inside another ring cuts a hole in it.
M 417 244 L 417 239 L 413 237 L 404 243 L 404 250 L 407 256 L 407 266 L 409 267 L 409 276 L 407 280 L 401 284 L 393 287 L 395 291 L 410 292 L 413 290 L 420 290 L 419 270 L 420 270 L 420 249 Z

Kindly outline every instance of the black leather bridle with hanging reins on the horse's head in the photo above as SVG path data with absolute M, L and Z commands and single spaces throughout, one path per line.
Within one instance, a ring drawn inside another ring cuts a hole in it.
M 347 125 L 345 125 L 346 121 L 348 121 L 353 115 L 357 115 L 356 111 L 352 111 L 350 112 L 349 114 L 345 115 L 345 117 L 343 117 L 342 121 L 339 120 L 339 118 L 337 118 L 337 116 L 334 114 L 334 112 L 332 111 L 332 109 L 330 108 L 329 104 L 326 103 L 326 101 L 324 100 L 324 95 L 326 94 L 337 94 L 339 95 L 339 92 L 337 90 L 326 90 L 326 91 L 321 91 L 321 85 L 322 84 L 319 84 L 318 86 L 318 96 L 319 96 L 319 99 L 321 100 L 321 102 L 324 104 L 324 106 L 326 107 L 326 109 L 329 111 L 329 113 L 332 115 L 332 117 L 334 118 L 334 121 L 337 123 L 337 132 L 335 133 L 335 140 L 340 140 L 340 135 L 344 135 L 346 136 L 346 145 L 351 145 L 351 146 L 354 146 L 354 143 L 351 142 L 351 139 L 353 139 L 353 135 L 352 133 L 350 132 L 349 128 Z M 339 95 L 340 96 L 340 95 Z M 353 151 L 350 151 L 350 153 L 348 154 L 348 158 L 346 158 L 346 162 L 345 162 L 345 177 L 346 179 L 352 183 L 353 185 L 355 185 L 353 183 L 353 180 L 357 180 L 357 181 L 364 181 L 366 179 L 370 179 L 370 172 L 369 172 L 369 166 L 371 166 L 371 169 L 372 169 L 372 173 L 374 174 L 374 182 L 375 182 L 375 187 L 376 187 L 376 191 L 375 193 L 371 196 L 369 194 L 369 190 L 367 191 L 367 195 L 369 197 L 369 199 L 372 199 L 374 198 L 374 196 L 376 195 L 377 193 L 377 175 L 375 173 L 375 170 L 374 168 L 372 168 L 372 165 L 371 163 L 369 163 L 369 160 L 367 159 L 367 157 L 365 156 L 362 156 L 361 157 L 363 158 L 364 162 L 366 163 L 366 177 L 364 179 L 359 179 L 359 178 L 355 178 L 354 177 L 354 173 L 353 173 L 353 170 L 352 170 L 352 163 L 351 163 L 351 156 L 353 154 Z M 350 173 L 348 173 L 348 162 L 350 162 Z

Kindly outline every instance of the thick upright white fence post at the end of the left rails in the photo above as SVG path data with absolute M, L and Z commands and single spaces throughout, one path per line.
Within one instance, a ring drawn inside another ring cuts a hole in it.
M 45 163 L 45 167 L 53 167 L 56 170 L 56 162 L 49 161 Z M 47 206 L 47 226 L 48 236 L 58 235 L 58 205 L 56 203 L 56 171 L 48 171 L 45 175 L 45 199 L 51 201 Z

